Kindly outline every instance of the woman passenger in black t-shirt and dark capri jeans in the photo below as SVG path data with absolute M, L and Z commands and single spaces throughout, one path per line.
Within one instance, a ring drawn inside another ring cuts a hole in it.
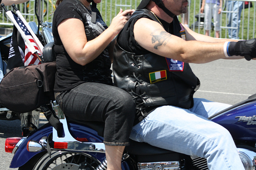
M 136 113 L 130 94 L 113 86 L 108 46 L 134 10 L 120 9 L 107 27 L 91 2 L 56 2 L 52 26 L 57 65 L 55 97 L 67 119 L 105 123 L 108 170 L 121 170 Z

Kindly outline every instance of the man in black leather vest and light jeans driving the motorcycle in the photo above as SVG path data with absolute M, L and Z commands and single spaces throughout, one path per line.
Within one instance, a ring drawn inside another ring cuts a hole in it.
M 142 0 L 116 38 L 114 83 L 133 96 L 140 121 L 130 138 L 204 157 L 210 170 L 242 170 L 230 133 L 207 119 L 229 105 L 193 98 L 200 82 L 188 63 L 250 60 L 256 39 L 231 42 L 195 33 L 177 18 L 187 5 Z

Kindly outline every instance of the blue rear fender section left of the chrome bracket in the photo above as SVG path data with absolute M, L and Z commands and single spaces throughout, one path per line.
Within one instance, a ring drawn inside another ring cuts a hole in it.
M 39 128 L 38 130 L 32 132 L 18 147 L 18 149 L 16 150 L 13 158 L 12 158 L 12 162 L 10 164 L 10 168 L 18 168 L 24 164 L 26 164 L 26 162 L 28 162 L 28 160 L 30 160 L 32 157 L 34 157 L 36 154 L 43 152 L 28 152 L 27 150 L 27 143 L 30 140 L 34 140 L 34 141 L 40 141 L 40 139 L 42 139 L 42 137 L 48 137 L 50 134 L 52 133 L 52 126 L 48 123 L 46 125 L 44 125 L 42 128 Z

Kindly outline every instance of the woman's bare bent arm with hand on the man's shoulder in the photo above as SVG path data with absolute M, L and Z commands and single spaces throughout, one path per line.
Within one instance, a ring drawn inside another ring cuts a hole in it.
M 124 12 L 120 10 L 110 26 L 91 41 L 87 41 L 84 24 L 81 20 L 76 18 L 63 20 L 58 25 L 58 32 L 68 55 L 80 65 L 86 65 L 93 61 L 124 27 L 130 18 L 127 14 L 132 12 L 133 10 Z

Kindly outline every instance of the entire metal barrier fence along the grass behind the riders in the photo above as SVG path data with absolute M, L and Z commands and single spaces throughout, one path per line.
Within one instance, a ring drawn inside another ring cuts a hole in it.
M 204 25 L 204 14 L 200 13 L 200 8 L 202 6 L 202 0 L 188 0 L 188 25 L 190 29 L 198 33 L 205 34 L 205 25 Z M 232 10 L 227 10 L 227 0 L 222 2 L 222 12 L 220 14 L 220 38 L 229 38 L 228 29 L 238 29 L 238 27 L 228 27 L 228 15 L 238 13 L 234 10 L 235 6 L 232 7 Z M 235 1 L 233 1 L 235 2 Z M 255 35 L 255 12 L 256 12 L 256 0 L 249 1 L 249 6 L 246 8 L 245 0 L 239 0 L 242 3 L 242 12 L 240 16 L 240 30 L 237 34 L 239 39 L 251 39 L 256 37 Z M 112 18 L 118 14 L 120 8 L 123 10 L 126 9 L 136 9 L 140 0 L 102 0 L 98 4 L 98 9 L 102 14 L 102 18 L 110 25 Z M 23 4 L 16 5 L 22 15 L 26 18 L 27 21 L 35 21 L 37 23 L 36 16 L 34 14 L 34 4 L 35 0 L 30 0 Z M 6 6 L 8 10 L 12 10 L 11 6 Z M 42 0 L 42 13 L 43 21 L 51 22 L 55 10 L 55 1 L 52 0 Z M 183 16 L 183 17 L 182 17 Z M 184 23 L 185 14 L 178 16 L 179 20 Z M 212 21 L 213 22 L 213 21 Z M 0 27 L 12 27 L 12 22 L 5 15 L 4 10 L 1 10 L 0 14 Z M 216 37 L 214 31 L 214 26 L 212 24 L 212 29 L 210 29 L 210 36 Z

